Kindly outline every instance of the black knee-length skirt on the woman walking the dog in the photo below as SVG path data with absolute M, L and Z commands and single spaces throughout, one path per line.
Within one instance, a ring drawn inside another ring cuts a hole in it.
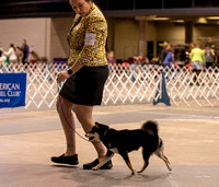
M 64 83 L 59 95 L 79 105 L 101 105 L 108 67 L 82 67 Z

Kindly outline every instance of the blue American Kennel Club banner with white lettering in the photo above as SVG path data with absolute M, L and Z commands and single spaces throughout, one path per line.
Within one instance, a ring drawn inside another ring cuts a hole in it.
M 0 108 L 25 106 L 26 73 L 0 73 Z

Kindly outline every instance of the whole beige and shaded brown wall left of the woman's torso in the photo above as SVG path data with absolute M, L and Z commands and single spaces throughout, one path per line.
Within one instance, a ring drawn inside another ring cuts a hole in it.
M 67 58 L 71 23 L 72 17 L 0 20 L 0 47 L 8 50 L 10 44 L 21 46 L 25 38 L 31 49 L 48 61 Z

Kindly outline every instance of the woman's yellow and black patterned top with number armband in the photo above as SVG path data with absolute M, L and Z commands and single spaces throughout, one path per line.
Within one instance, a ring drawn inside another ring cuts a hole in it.
M 103 13 L 92 3 L 85 17 L 76 15 L 67 39 L 70 51 L 68 65 L 79 61 L 87 67 L 106 66 L 105 44 L 107 23 Z

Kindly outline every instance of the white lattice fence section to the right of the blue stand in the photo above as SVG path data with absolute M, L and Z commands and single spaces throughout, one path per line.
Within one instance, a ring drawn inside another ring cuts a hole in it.
M 178 105 L 185 103 L 187 106 L 219 104 L 219 74 L 218 69 L 205 69 L 200 72 L 194 83 L 194 77 L 187 69 L 176 69 L 173 73 L 169 71 L 170 81 L 166 81 L 168 93 L 171 101 Z

